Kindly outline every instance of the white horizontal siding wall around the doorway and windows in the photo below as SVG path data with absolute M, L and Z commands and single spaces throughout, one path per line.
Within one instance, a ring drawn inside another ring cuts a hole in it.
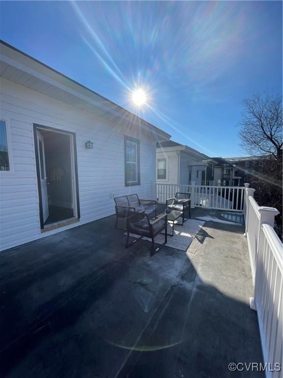
M 0 250 L 46 237 L 114 213 L 113 196 L 153 198 L 156 140 L 153 134 L 113 115 L 95 117 L 47 95 L 1 79 L 0 118 L 11 139 L 12 171 L 0 172 Z M 80 221 L 41 232 L 33 124 L 76 133 Z M 124 135 L 140 140 L 141 185 L 125 187 Z M 93 150 L 85 149 L 91 140 Z

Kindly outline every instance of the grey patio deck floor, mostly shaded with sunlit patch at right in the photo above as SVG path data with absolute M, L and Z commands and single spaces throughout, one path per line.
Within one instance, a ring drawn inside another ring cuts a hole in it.
M 187 252 L 125 250 L 113 216 L 1 253 L 0 377 L 263 377 L 228 370 L 262 362 L 233 217 L 206 222 Z

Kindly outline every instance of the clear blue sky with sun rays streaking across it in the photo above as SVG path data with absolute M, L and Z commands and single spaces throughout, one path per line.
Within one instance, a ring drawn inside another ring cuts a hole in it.
M 282 93 L 281 1 L 1 1 L 0 25 L 4 41 L 209 156 L 247 155 L 241 101 Z

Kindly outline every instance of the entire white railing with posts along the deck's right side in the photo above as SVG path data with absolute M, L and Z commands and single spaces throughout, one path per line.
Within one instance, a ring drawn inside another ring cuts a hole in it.
M 259 206 L 255 189 L 245 185 L 245 235 L 254 281 L 251 307 L 257 311 L 264 362 L 271 367 L 266 377 L 279 378 L 283 369 L 283 244 L 273 229 L 279 212 Z M 272 371 L 275 363 L 281 364 L 281 371 Z

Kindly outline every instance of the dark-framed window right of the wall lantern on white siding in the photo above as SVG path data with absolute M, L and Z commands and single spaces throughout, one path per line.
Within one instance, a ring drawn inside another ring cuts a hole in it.
M 125 186 L 141 185 L 140 179 L 140 141 L 125 136 Z

